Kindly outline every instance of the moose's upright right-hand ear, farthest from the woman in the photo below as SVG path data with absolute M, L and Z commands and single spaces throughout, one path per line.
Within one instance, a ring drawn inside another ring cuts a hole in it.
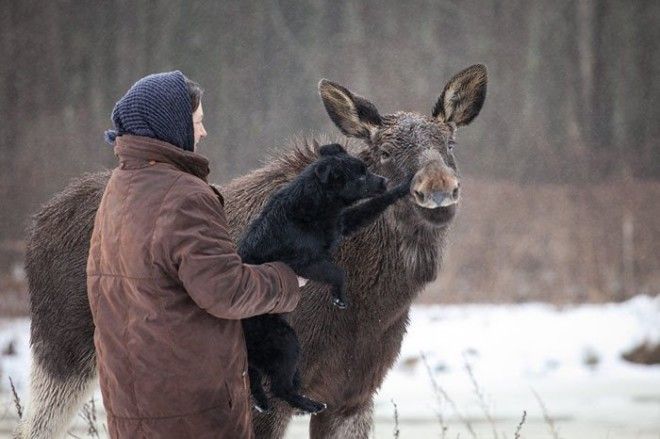
M 445 85 L 433 108 L 433 117 L 445 123 L 453 122 L 456 126 L 469 124 L 484 105 L 487 82 L 483 64 L 475 64 L 458 73 Z

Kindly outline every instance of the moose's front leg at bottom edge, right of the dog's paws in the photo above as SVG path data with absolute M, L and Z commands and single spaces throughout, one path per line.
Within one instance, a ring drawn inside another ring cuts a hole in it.
M 326 410 L 312 416 L 310 439 L 368 439 L 373 425 L 373 402 L 369 401 L 349 412 Z

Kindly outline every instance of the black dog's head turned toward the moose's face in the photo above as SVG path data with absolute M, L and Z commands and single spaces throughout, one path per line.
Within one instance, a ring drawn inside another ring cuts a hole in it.
M 319 148 L 314 174 L 321 186 L 347 204 L 382 194 L 387 179 L 367 169 L 364 162 L 348 154 L 338 143 Z

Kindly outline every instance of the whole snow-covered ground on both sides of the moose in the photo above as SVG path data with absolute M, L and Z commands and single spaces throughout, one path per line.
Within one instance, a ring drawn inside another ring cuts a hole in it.
M 25 319 L 0 322 L 0 437 L 15 423 L 8 376 L 27 400 L 28 329 Z M 660 342 L 660 297 L 414 307 L 376 397 L 374 436 L 395 437 L 394 402 L 400 438 L 513 438 L 526 411 L 523 438 L 658 439 L 660 366 L 621 358 L 645 340 Z M 306 422 L 296 418 L 287 438 L 306 437 Z M 88 437 L 77 424 L 75 435 Z

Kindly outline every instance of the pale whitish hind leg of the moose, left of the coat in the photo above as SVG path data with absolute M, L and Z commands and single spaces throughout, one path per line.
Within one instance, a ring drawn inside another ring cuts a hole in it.
M 64 437 L 73 416 L 96 386 L 96 357 L 81 373 L 66 378 L 53 376 L 33 358 L 30 375 L 30 401 L 14 438 Z

